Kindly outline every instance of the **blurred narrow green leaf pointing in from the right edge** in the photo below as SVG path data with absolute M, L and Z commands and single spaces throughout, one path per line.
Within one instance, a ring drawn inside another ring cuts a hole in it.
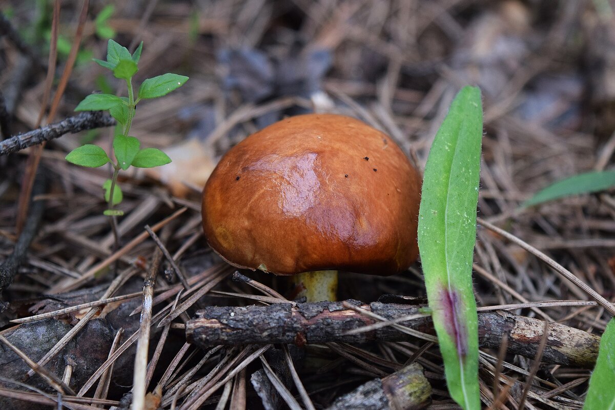
M 593 171 L 561 179 L 521 204 L 521 207 L 531 207 L 542 202 L 569 197 L 571 195 L 590 194 L 605 191 L 615 186 L 615 171 Z

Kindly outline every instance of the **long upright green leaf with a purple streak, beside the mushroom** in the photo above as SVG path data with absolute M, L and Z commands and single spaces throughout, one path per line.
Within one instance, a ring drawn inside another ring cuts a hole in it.
M 480 409 L 472 260 L 482 136 L 480 90 L 464 87 L 429 151 L 419 210 L 419 251 L 446 384 L 465 410 Z

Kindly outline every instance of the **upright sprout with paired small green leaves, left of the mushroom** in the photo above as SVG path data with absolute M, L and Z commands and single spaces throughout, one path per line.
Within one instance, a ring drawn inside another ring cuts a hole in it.
M 135 97 L 132 77 L 137 74 L 142 49 L 143 42 L 139 44 L 134 53 L 130 54 L 126 47 L 109 39 L 106 61 L 97 58 L 93 60 L 98 65 L 111 70 L 114 77 L 126 82 L 128 97 L 118 97 L 113 94 L 90 94 L 75 108 L 75 111 L 109 111 L 119 125 L 113 138 L 115 161 L 109 158 L 104 149 L 94 144 L 80 146 L 66 156 L 68 162 L 82 167 L 97 168 L 108 163 L 113 165 L 113 176 L 103 184 L 105 201 L 108 203 L 108 208 L 104 213 L 109 216 L 123 215 L 121 210 L 114 209 L 122 202 L 122 191 L 117 185 L 117 175 L 120 170 L 125 171 L 131 165 L 137 168 L 152 168 L 171 162 L 167 154 L 157 148 L 141 149 L 140 141 L 129 135 L 137 103 L 145 98 L 167 95 L 188 81 L 186 76 L 162 74 L 162 76 L 143 81 Z

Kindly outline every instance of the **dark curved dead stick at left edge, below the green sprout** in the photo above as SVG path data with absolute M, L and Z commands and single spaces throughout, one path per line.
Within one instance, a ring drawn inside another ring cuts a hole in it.
M 45 174 L 39 172 L 34 181 L 33 197 L 45 192 Z M 13 278 L 17 275 L 17 270 L 22 265 L 26 258 L 26 252 L 30 247 L 30 243 L 36 236 L 39 223 L 41 222 L 42 213 L 45 209 L 45 201 L 33 201 L 30 207 L 30 214 L 26 219 L 26 224 L 23 227 L 22 234 L 19 235 L 13 253 L 0 265 L 0 292 L 8 288 L 13 282 Z

